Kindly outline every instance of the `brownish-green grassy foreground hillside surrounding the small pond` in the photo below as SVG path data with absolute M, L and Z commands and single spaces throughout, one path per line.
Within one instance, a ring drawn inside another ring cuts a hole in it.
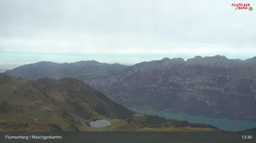
M 0 73 L 0 91 L 0 131 L 217 130 L 134 113 L 74 78 L 30 81 Z M 90 122 L 98 119 L 111 124 L 91 127 Z

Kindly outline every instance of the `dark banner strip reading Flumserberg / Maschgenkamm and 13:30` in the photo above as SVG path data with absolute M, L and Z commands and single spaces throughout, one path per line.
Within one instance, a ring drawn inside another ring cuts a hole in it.
M 255 142 L 256 132 L 0 132 L 1 143 L 236 143 Z

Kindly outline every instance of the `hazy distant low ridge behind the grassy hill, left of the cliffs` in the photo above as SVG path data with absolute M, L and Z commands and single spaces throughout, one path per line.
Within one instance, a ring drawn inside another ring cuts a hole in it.
M 4 73 L 16 78 L 41 79 L 41 78 L 77 78 L 86 79 L 95 76 L 112 75 L 124 70 L 128 66 L 121 64 L 105 64 L 97 61 L 79 61 L 74 63 L 58 64 L 55 62 L 37 62 L 35 64 L 21 65 L 7 70 Z

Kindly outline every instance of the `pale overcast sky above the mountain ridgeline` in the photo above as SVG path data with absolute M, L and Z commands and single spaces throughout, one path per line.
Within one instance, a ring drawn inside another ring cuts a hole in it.
M 254 10 L 235 10 L 232 2 Z M 0 0 L 0 68 L 38 61 L 134 64 L 256 56 L 256 3 L 229 0 Z

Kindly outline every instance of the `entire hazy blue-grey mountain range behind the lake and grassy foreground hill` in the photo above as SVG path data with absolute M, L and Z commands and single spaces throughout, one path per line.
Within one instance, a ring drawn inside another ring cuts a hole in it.
M 132 66 L 38 62 L 5 73 L 33 80 L 77 78 L 127 107 L 256 121 L 256 57 L 163 58 Z

